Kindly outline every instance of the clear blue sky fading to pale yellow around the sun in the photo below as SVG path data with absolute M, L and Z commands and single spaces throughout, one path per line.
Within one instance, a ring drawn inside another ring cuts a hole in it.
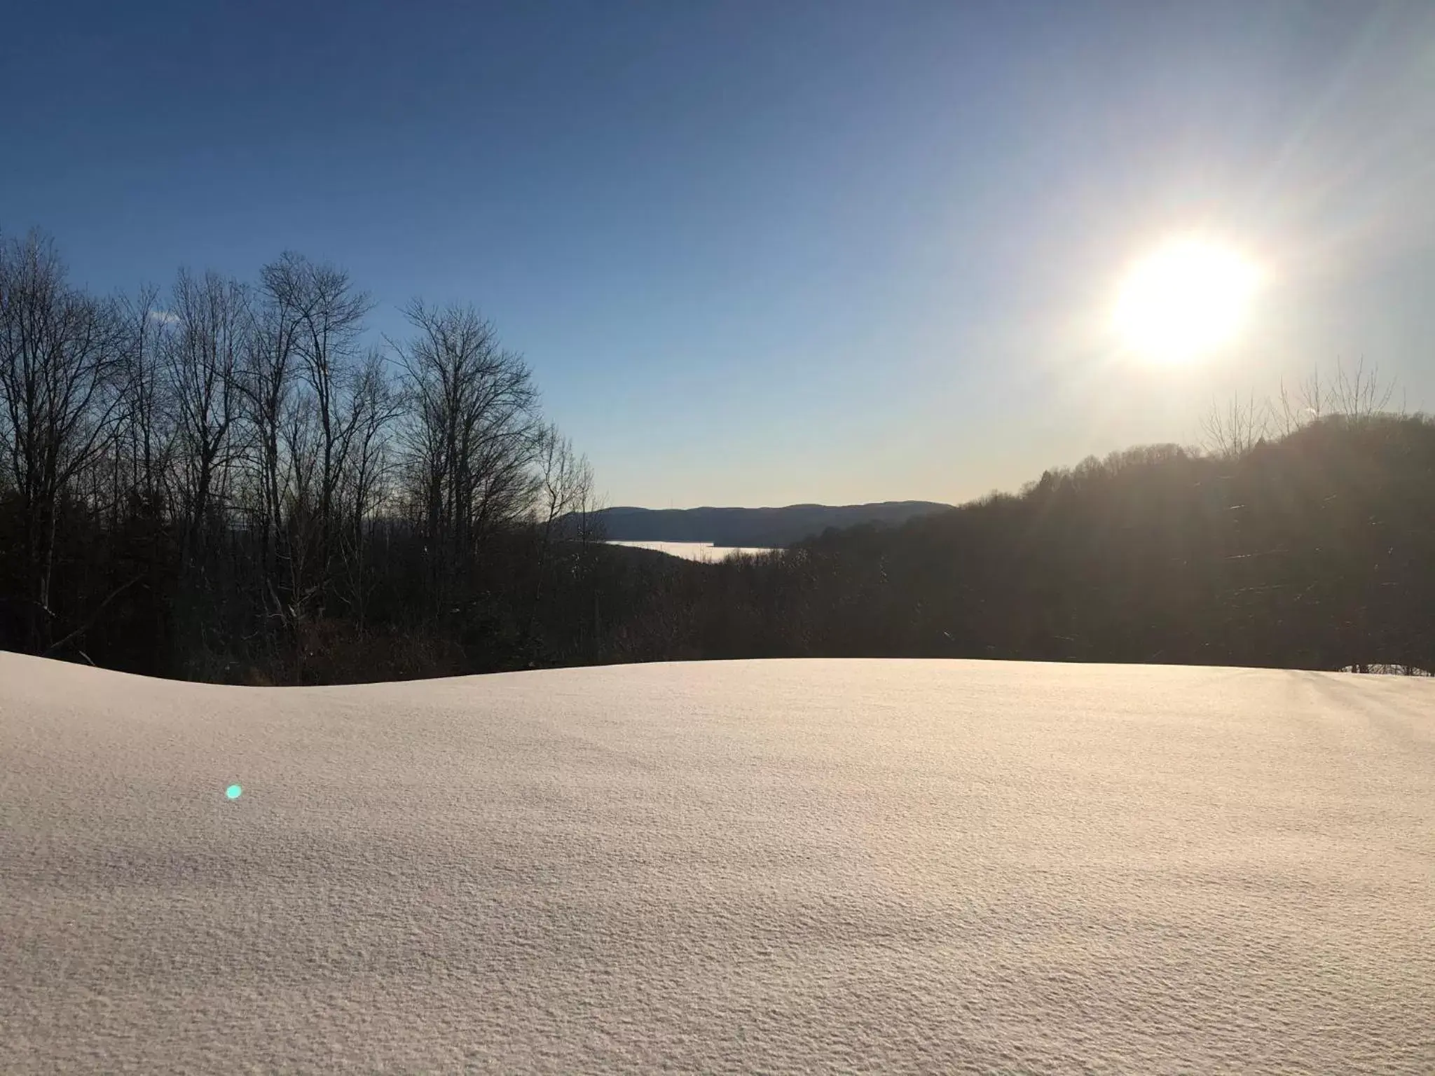
M 1435 4 L 23 4 L 0 228 L 472 301 L 611 504 L 960 501 L 1363 357 L 1435 409 Z M 1269 270 L 1171 367 L 1201 231 Z

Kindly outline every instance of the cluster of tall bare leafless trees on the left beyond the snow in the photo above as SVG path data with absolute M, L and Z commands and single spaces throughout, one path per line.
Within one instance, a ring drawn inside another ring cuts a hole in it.
M 0 644 L 306 683 L 578 660 L 593 471 L 465 306 L 297 254 L 98 297 L 0 238 Z M 567 626 L 567 627 L 564 627 Z

